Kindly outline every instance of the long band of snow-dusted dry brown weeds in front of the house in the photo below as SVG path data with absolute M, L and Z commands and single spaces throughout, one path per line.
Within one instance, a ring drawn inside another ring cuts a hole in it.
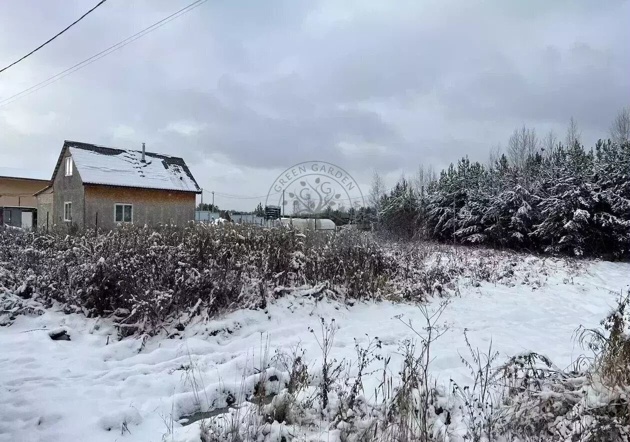
M 166 322 L 181 328 L 226 310 L 265 308 L 288 293 L 350 305 L 364 299 L 425 302 L 457 293 L 459 283 L 512 285 L 522 278 L 540 285 L 554 259 L 383 242 L 352 230 L 302 234 L 190 224 L 71 235 L 0 228 L 0 289 L 13 300 L 3 309 L 5 322 L 28 311 L 15 308 L 15 300 L 56 300 L 69 312 L 114 317 L 121 336 L 159 332 Z

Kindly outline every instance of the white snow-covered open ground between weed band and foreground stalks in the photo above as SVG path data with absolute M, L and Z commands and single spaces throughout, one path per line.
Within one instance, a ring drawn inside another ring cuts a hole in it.
M 449 331 L 433 347 L 438 382 L 470 382 L 459 356 L 467 355 L 464 329 L 481 349 L 492 339 L 501 355 L 532 349 L 559 366 L 568 365 L 582 353 L 572 339 L 576 326 L 599 324 L 616 293 L 630 282 L 630 264 L 593 262 L 586 267 L 578 275 L 559 268 L 541 276 L 541 286 L 462 282 L 440 319 Z M 434 299 L 432 308 L 438 302 Z M 244 375 L 260 368 L 267 340 L 270 355 L 300 343 L 316 366 L 320 350 L 309 327 L 318 332 L 320 317 L 334 318 L 333 356 L 353 360 L 355 338 L 367 345 L 377 336 L 380 352 L 391 354 L 390 366 L 398 367 L 399 344 L 413 333 L 397 317 L 419 328 L 418 313 L 418 307 L 391 302 L 348 307 L 287 297 L 266 312 L 239 310 L 192 324 L 173 339 L 154 337 L 144 344 L 133 338 L 117 341 L 105 319 L 55 309 L 18 317 L 12 326 L 0 328 L 0 441 L 161 441 L 169 426 L 175 435 L 164 440 L 194 440 L 194 424 L 181 428 L 171 422 L 171 416 L 176 421 L 195 411 L 192 383 L 202 387 L 202 402 L 224 407 L 228 392 L 238 392 Z M 64 327 L 70 341 L 50 339 L 49 331 L 58 327 Z M 377 382 L 375 377 L 365 380 L 368 398 Z

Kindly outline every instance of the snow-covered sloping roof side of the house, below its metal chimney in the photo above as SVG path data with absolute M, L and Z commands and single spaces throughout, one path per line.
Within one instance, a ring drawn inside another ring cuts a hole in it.
M 66 141 L 83 183 L 198 192 L 183 159 L 140 150 Z

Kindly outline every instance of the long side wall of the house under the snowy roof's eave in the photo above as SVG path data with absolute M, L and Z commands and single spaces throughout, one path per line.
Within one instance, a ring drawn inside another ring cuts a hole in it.
M 55 204 L 57 201 L 55 200 Z M 111 230 L 116 203 L 132 204 L 134 224 L 185 225 L 195 218 L 195 193 L 113 186 L 85 186 L 85 226 Z

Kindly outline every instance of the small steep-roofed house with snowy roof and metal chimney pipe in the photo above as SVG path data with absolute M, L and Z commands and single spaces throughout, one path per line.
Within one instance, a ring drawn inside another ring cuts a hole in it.
M 51 225 L 183 225 L 201 193 L 183 159 L 146 152 L 144 143 L 126 150 L 66 141 L 50 181 L 36 196 L 38 216 Z

